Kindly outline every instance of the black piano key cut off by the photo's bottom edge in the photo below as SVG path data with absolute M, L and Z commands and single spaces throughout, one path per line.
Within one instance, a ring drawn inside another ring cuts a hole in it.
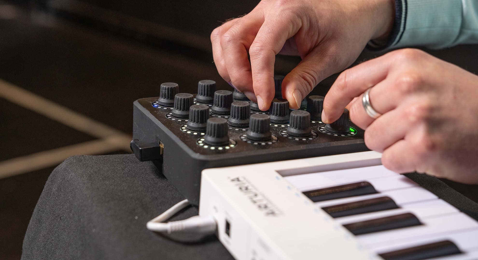
M 445 240 L 413 248 L 380 254 L 385 260 L 422 260 L 462 253 L 451 241 Z

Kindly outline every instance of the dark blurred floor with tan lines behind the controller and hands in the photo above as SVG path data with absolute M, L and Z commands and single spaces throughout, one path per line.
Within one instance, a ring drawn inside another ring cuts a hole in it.
M 132 102 L 162 82 L 224 83 L 210 32 L 258 0 L 0 0 L 0 259 L 22 239 L 52 169 L 76 154 L 129 153 Z M 478 48 L 432 54 L 478 71 Z M 430 51 L 429 51 L 430 52 Z M 358 62 L 382 53 L 365 51 Z M 276 73 L 300 60 L 278 56 Z M 337 75 L 315 88 L 326 94 Z M 477 186 L 446 181 L 478 201 Z

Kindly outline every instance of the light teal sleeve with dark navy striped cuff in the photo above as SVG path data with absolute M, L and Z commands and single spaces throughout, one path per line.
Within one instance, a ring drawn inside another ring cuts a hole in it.
M 441 49 L 478 44 L 478 0 L 396 0 L 396 17 L 387 44 L 371 49 L 425 46 Z

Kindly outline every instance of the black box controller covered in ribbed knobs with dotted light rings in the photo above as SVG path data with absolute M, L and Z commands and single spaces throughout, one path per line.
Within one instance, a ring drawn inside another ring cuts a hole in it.
M 280 97 L 282 81 L 275 79 Z M 322 96 L 307 97 L 296 111 L 276 98 L 261 111 L 237 90 L 216 91 L 212 80 L 199 81 L 197 94 L 181 93 L 176 83 L 161 84 L 159 94 L 134 102 L 131 150 L 196 205 L 206 168 L 368 150 L 347 110 L 336 122 L 322 123 Z

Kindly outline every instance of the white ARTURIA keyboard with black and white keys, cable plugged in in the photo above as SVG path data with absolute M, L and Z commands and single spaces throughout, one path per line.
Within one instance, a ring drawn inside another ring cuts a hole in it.
M 237 260 L 478 260 L 478 222 L 369 151 L 202 172 Z

